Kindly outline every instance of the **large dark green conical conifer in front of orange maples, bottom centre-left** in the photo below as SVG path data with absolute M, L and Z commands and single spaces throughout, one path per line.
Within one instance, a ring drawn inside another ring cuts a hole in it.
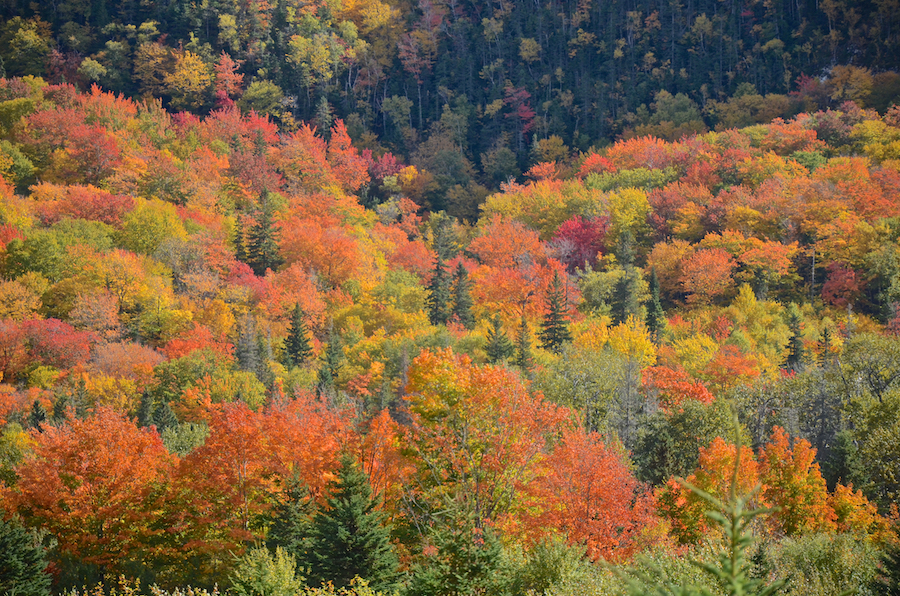
M 326 506 L 313 519 L 311 584 L 340 588 L 359 576 L 377 591 L 395 587 L 399 561 L 379 505 L 365 472 L 344 456 Z

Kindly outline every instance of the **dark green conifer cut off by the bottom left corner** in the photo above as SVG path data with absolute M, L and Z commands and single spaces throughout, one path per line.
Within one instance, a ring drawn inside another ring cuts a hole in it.
M 47 558 L 37 536 L 0 517 L 0 594 L 50 596 Z

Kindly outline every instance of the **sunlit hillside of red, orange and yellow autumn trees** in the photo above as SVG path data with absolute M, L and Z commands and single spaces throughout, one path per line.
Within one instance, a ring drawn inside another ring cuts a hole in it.
M 727 500 L 737 457 L 754 577 L 890 575 L 898 108 L 535 134 L 448 215 L 437 166 L 239 106 L 0 79 L 0 533 L 44 532 L 53 590 L 708 583 L 675 478 Z

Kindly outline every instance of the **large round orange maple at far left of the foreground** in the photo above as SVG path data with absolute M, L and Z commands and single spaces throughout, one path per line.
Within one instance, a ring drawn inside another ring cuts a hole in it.
M 114 571 L 140 559 L 176 458 L 155 431 L 108 408 L 32 435 L 34 450 L 3 489 L 8 513 L 49 529 L 61 552 Z

